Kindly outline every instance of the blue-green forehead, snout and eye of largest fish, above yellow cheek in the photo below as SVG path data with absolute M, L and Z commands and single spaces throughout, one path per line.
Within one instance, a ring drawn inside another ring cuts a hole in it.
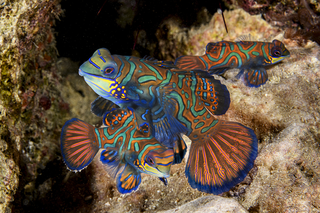
M 93 53 L 89 60 L 80 66 L 79 74 L 81 71 L 93 76 L 115 79 L 118 72 L 118 65 L 108 49 L 100 48 Z

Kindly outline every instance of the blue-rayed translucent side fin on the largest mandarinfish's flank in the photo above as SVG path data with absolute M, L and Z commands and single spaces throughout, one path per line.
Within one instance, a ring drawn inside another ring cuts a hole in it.
M 151 132 L 161 144 L 172 147 L 173 142 L 188 131 L 173 117 L 177 105 L 177 91 L 173 87 L 173 83 L 155 86 L 153 89 L 159 105 L 151 111 Z

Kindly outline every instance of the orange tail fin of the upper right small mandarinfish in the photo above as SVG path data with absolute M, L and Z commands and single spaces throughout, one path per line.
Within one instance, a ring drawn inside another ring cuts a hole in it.
M 175 60 L 174 65 L 176 65 L 180 69 L 207 69 L 204 62 L 199 58 L 199 56 L 180 56 Z

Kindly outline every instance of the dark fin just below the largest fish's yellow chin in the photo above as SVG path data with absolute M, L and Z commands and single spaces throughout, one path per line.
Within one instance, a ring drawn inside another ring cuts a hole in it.
M 113 109 L 120 108 L 120 106 L 116 105 L 112 101 L 109 101 L 108 99 L 105 99 L 101 96 L 96 98 L 91 103 L 91 112 L 98 117 L 102 117 L 106 112 L 110 112 Z

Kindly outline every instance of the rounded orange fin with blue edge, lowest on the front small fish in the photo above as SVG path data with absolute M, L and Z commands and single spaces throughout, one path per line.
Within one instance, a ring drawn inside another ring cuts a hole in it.
M 117 176 L 116 185 L 120 193 L 131 193 L 138 189 L 141 183 L 140 172 L 126 163 L 124 170 Z

